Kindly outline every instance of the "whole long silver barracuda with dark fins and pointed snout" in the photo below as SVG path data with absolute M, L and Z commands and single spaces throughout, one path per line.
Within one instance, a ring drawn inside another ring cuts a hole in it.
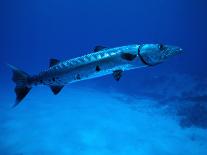
M 176 46 L 163 44 L 128 45 L 116 48 L 96 46 L 90 54 L 60 62 L 50 59 L 47 70 L 30 76 L 9 65 L 13 70 L 12 80 L 16 83 L 16 103 L 18 105 L 33 86 L 48 85 L 56 95 L 68 83 L 112 74 L 116 81 L 123 71 L 155 66 L 169 57 L 182 53 Z

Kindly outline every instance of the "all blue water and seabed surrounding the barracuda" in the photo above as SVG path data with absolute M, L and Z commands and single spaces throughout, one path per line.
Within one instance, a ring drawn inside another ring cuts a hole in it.
M 1 0 L 0 155 L 207 154 L 204 0 Z M 15 101 L 13 64 L 33 75 L 50 58 L 94 46 L 164 43 L 185 53 L 155 67 Z

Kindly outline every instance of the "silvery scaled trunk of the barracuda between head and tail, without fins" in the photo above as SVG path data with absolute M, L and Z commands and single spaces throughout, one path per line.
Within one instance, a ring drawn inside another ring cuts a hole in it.
M 139 45 L 130 45 L 104 49 L 66 60 L 40 73 L 36 82 L 52 86 L 66 85 L 112 74 L 116 70 L 125 71 L 145 67 L 146 65 L 141 62 L 138 56 L 138 48 Z M 123 58 L 123 54 L 131 54 L 136 57 L 133 60 L 127 60 Z

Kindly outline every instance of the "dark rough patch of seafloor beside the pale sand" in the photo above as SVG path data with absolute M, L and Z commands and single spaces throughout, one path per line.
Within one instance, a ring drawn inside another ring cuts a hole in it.
M 188 88 L 184 82 L 191 86 Z M 157 108 L 167 107 L 167 113 L 180 118 L 181 127 L 207 129 L 207 79 L 164 75 L 145 77 L 135 84 L 142 88 L 137 90 L 138 96 L 157 101 Z M 130 103 L 127 99 L 127 104 Z

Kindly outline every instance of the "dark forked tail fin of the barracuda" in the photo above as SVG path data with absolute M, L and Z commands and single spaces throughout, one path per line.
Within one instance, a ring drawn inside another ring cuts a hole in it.
M 13 105 L 13 107 L 16 107 L 31 90 L 31 87 L 28 87 L 28 85 L 27 85 L 28 78 L 30 76 L 29 76 L 29 74 L 19 70 L 18 68 L 14 67 L 12 65 L 8 64 L 8 66 L 13 71 L 12 80 L 16 83 L 16 87 L 15 87 L 16 102 Z

